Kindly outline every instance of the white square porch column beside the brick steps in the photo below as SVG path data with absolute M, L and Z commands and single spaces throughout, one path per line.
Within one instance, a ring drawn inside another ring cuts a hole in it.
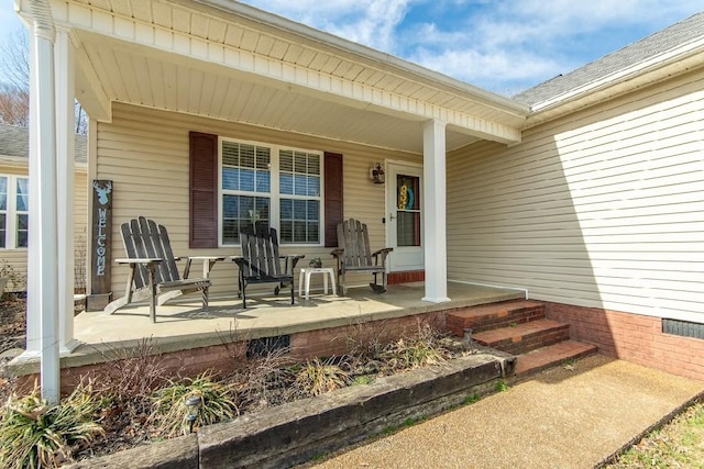
M 426 239 L 426 295 L 441 303 L 448 298 L 448 243 L 446 227 L 446 123 L 428 122 L 422 131 L 424 226 Z

